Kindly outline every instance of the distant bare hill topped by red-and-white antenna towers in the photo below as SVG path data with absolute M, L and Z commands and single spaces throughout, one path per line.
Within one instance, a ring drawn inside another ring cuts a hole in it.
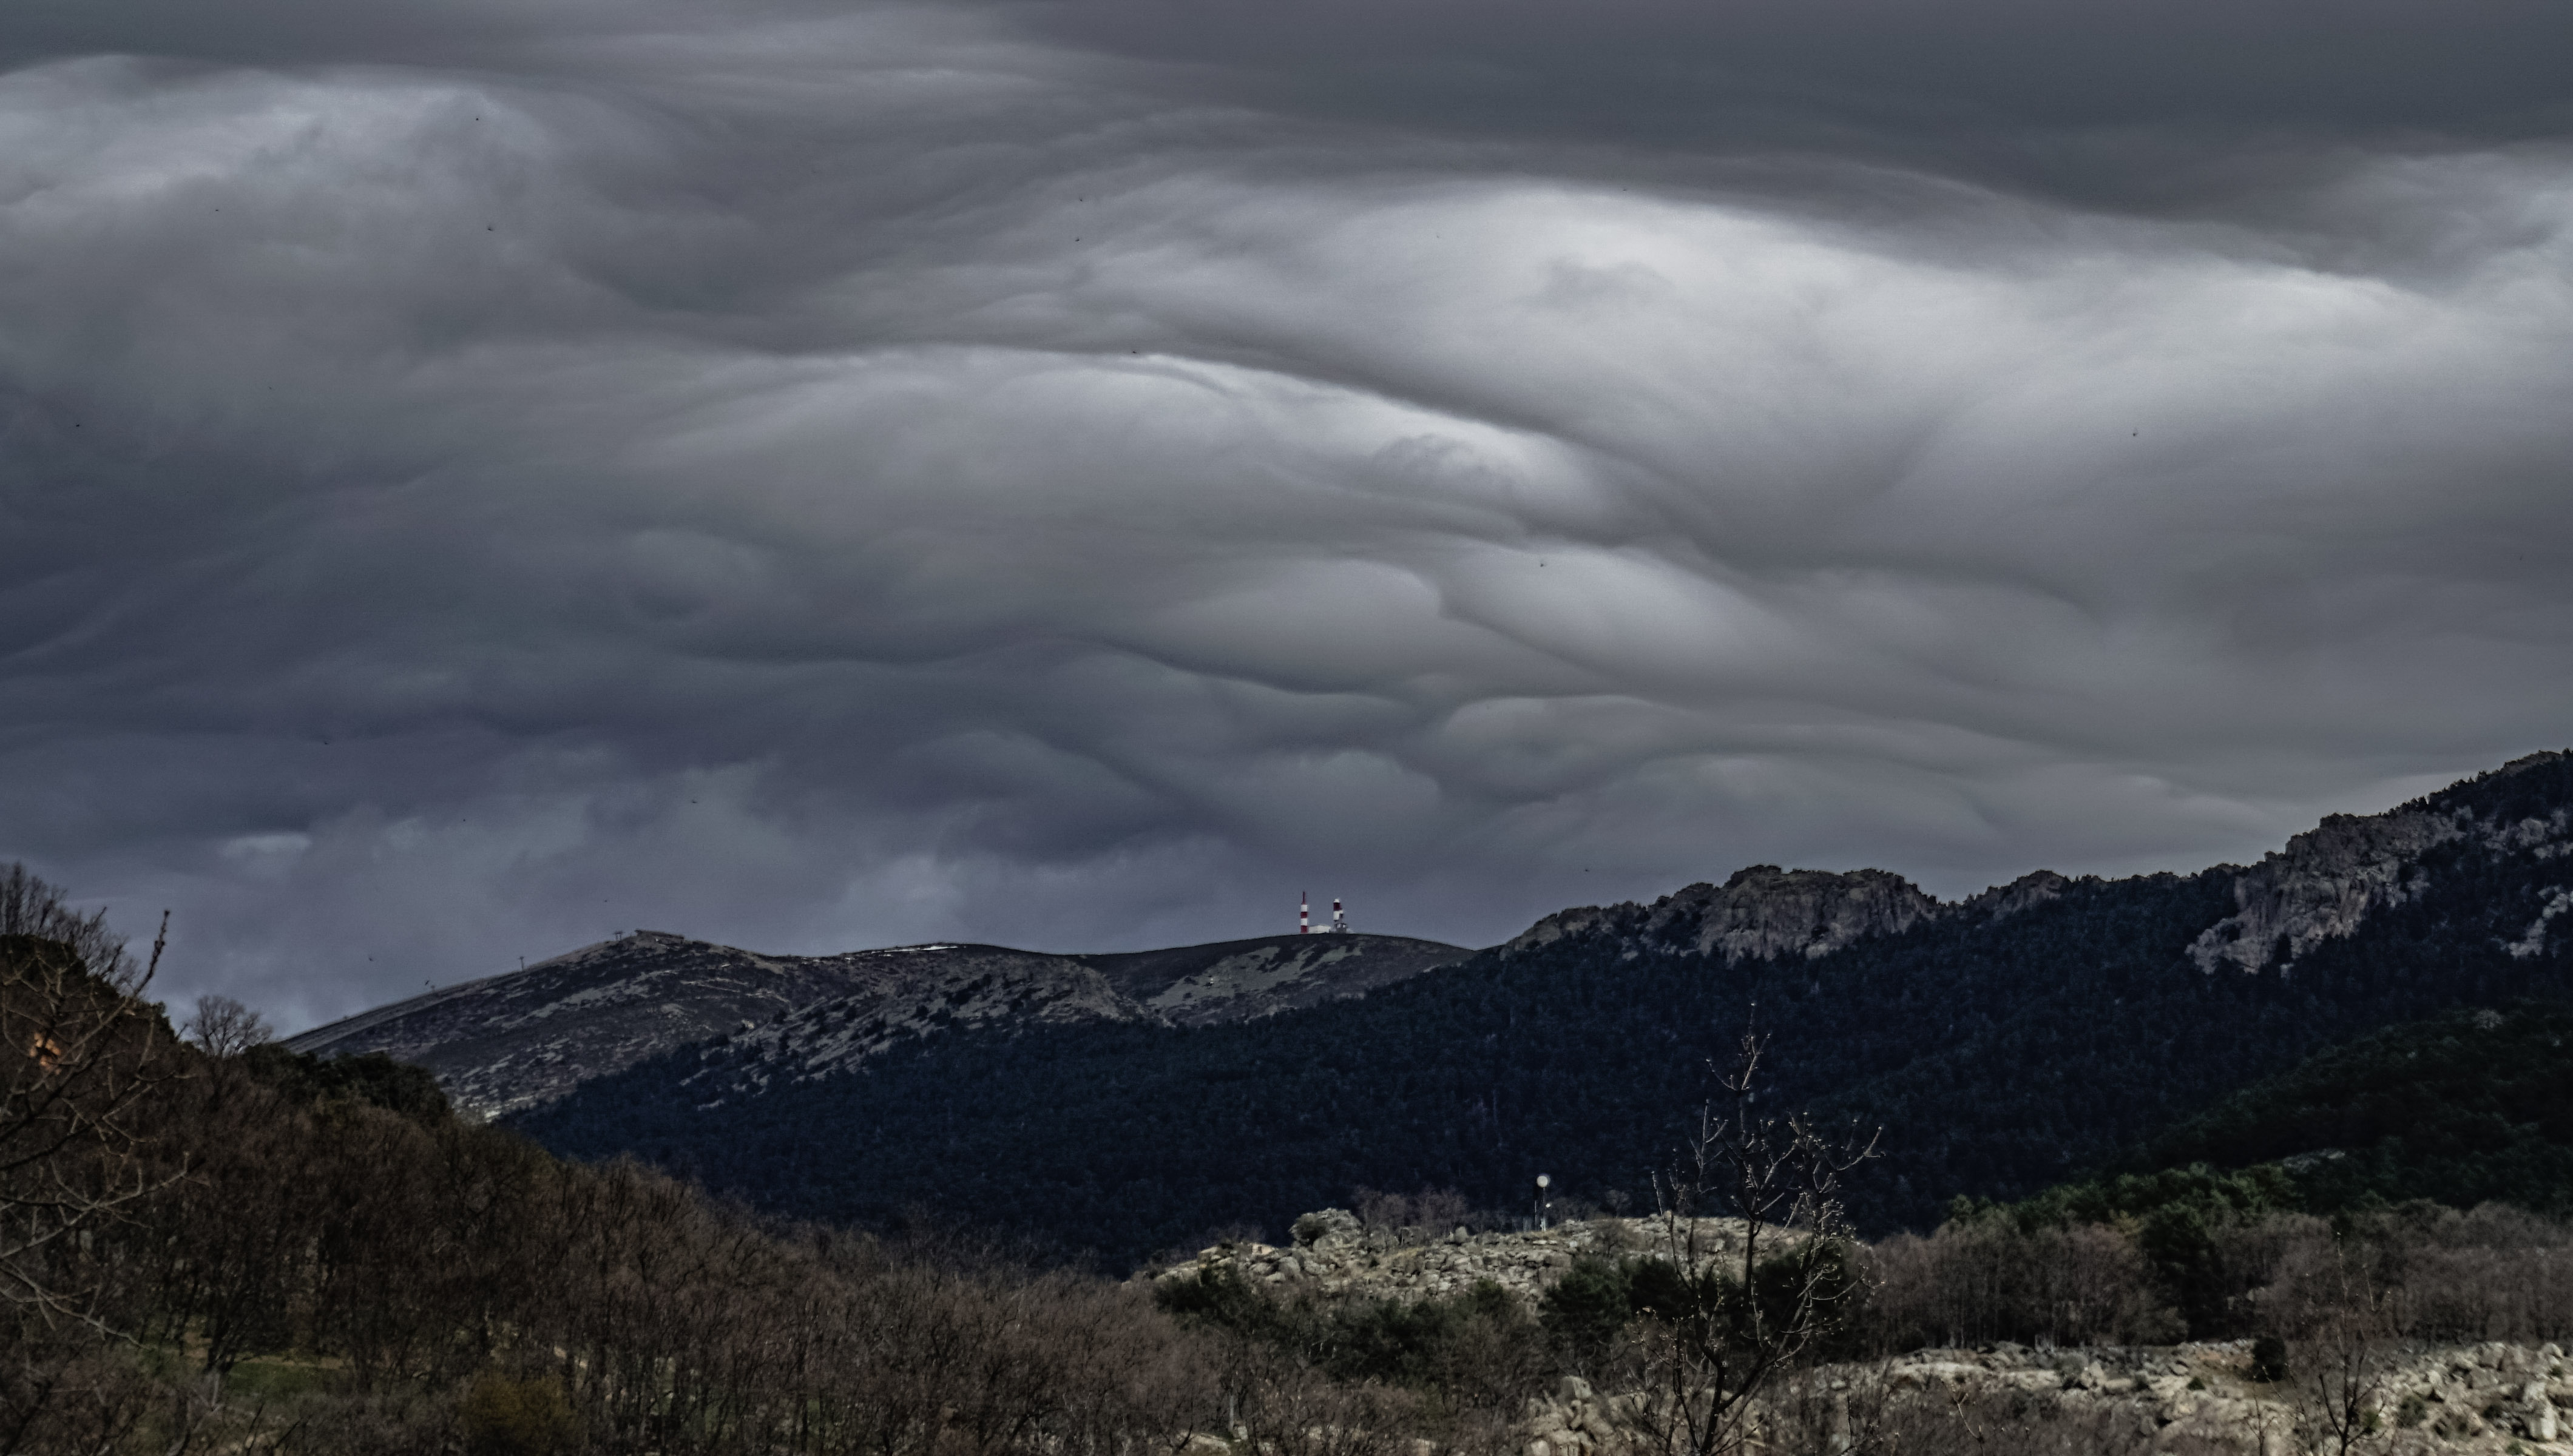
M 1312 934 L 1127 954 L 926 944 L 800 957 L 636 931 L 314 1026 L 286 1047 L 389 1052 L 430 1068 L 458 1111 L 499 1116 L 710 1039 L 736 1039 L 733 1060 L 756 1065 L 751 1080 L 764 1086 L 931 1032 L 1271 1016 L 1467 954 L 1407 936 Z

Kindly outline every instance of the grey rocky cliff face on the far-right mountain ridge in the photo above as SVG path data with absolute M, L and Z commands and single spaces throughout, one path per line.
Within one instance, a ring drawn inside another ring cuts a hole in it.
M 2529 754 L 2501 767 L 2524 774 L 2555 767 L 2563 754 Z M 2197 970 L 2262 970 L 2287 965 L 2316 944 L 2359 929 L 2370 911 L 2401 905 L 2429 887 L 2421 854 L 2460 839 L 2475 839 L 2496 854 L 2552 859 L 2568 849 L 2573 810 L 2550 815 L 2478 815 L 2470 803 L 2434 795 L 2377 815 L 2336 813 L 2298 833 L 2287 849 L 2264 857 L 2233 877 L 2236 913 L 2205 929 L 2190 944 Z M 2532 926 L 2514 954 L 2537 954 L 2545 944 L 2545 918 Z

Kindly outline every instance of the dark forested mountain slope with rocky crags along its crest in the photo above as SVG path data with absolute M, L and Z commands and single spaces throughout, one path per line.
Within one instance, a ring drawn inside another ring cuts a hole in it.
M 1706 1062 L 1775 1037 L 1768 1106 L 1883 1124 L 1865 1227 L 2025 1196 L 2393 1021 L 2568 993 L 2573 761 L 2540 754 L 2251 867 L 2028 875 L 1937 903 L 1755 867 L 1546 916 L 1461 965 L 1258 1021 L 913 1039 L 823 1075 L 638 1062 L 517 1119 L 834 1222 L 908 1206 L 1109 1258 L 1356 1186 L 1649 1199 Z M 754 1086 L 756 1083 L 756 1086 Z

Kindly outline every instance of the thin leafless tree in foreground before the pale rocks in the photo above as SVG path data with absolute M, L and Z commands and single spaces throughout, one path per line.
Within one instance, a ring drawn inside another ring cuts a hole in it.
M 1804 1114 L 1760 1116 L 1768 1039 L 1744 1032 L 1721 1098 L 1667 1176 L 1660 1253 L 1667 1276 L 1644 1340 L 1649 1397 L 1629 1417 L 1672 1456 L 1732 1456 L 1757 1443 L 1760 1392 L 1863 1297 L 1840 1178 L 1876 1155 L 1876 1134 L 1835 1140 Z

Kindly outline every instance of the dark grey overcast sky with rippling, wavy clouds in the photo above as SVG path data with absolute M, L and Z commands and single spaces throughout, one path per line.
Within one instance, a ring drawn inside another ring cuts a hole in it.
M 2573 5 L 13 0 L 0 859 L 286 1026 L 2573 741 Z

